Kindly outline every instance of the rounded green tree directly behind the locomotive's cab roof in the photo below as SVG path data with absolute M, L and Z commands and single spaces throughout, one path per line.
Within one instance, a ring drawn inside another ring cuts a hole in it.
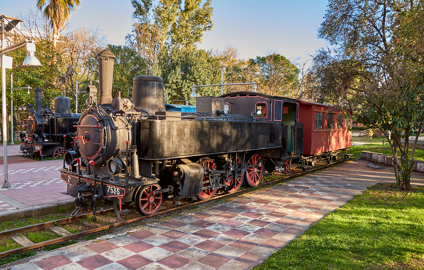
M 295 97 L 299 90 L 298 68 L 282 55 L 272 53 L 249 60 L 249 69 L 258 89 L 268 95 Z

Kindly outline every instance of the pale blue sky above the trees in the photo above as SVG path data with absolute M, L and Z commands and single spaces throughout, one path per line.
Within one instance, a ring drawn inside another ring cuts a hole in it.
M 0 13 L 19 17 L 30 8 L 36 9 L 37 0 L 4 2 Z M 327 46 L 325 40 L 317 37 L 327 3 L 327 0 L 212 0 L 213 27 L 204 33 L 198 48 L 223 50 L 228 44 L 237 49 L 239 58 L 275 52 L 290 60 L 306 61 L 309 55 Z M 80 0 L 80 4 L 71 13 L 67 31 L 80 25 L 98 28 L 109 43 L 125 45 L 125 36 L 131 33 L 133 24 L 131 0 Z

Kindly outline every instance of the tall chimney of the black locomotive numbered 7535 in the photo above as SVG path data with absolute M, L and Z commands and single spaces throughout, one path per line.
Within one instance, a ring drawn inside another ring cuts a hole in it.
M 116 56 L 110 50 L 97 55 L 99 62 L 99 103 L 112 104 L 113 64 Z

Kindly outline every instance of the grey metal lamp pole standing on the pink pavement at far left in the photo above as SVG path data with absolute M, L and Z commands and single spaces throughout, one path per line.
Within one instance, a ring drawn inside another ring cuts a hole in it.
M 2 50 L 5 47 L 4 40 L 4 16 L 1 17 L 1 48 Z M 9 188 L 7 177 L 7 122 L 6 122 L 6 67 L 3 63 L 4 52 L 0 54 L 0 64 L 1 64 L 1 91 L 2 91 L 2 117 L 3 117 L 3 161 L 4 161 L 4 183 L 2 188 Z

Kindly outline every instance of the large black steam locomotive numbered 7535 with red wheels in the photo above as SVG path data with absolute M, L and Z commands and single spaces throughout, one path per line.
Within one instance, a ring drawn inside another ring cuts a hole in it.
M 66 152 L 69 167 L 61 170 L 75 197 L 73 216 L 88 207 L 95 213 L 105 199 L 118 219 L 133 201 L 140 214 L 154 214 L 164 200 L 177 205 L 235 192 L 243 182 L 257 186 L 265 161 L 282 168 L 302 156 L 300 100 L 240 92 L 198 97 L 197 112 L 165 111 L 162 78 L 148 70 L 134 78 L 132 99 L 112 99 L 115 56 L 104 50 L 97 57 L 99 103 L 88 86 L 89 108 L 74 137 L 81 156 Z

